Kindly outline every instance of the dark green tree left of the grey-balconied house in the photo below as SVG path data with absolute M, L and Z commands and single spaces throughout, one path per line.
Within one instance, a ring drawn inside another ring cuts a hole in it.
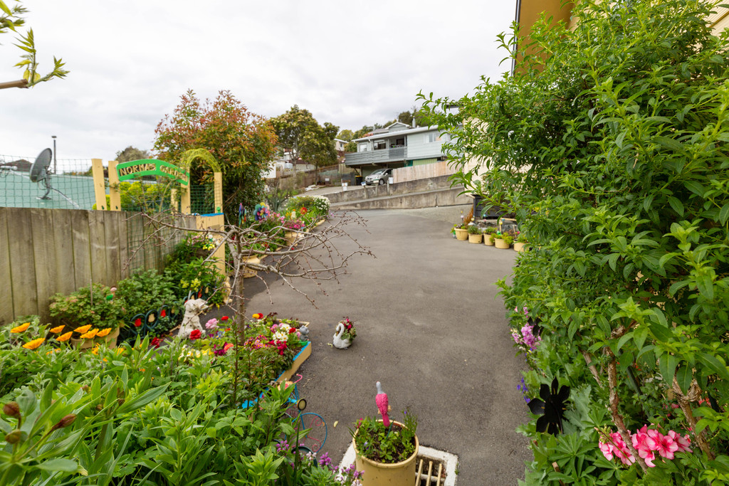
M 291 152 L 294 160 L 301 158 L 317 168 L 337 162 L 334 138 L 339 127 L 330 122 L 319 122 L 310 111 L 294 105 L 286 113 L 272 118 L 278 144 Z

